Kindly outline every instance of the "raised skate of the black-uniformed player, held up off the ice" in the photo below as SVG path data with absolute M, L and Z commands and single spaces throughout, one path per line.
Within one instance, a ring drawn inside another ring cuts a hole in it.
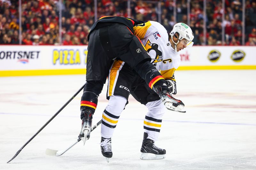
M 169 92 L 164 91 L 160 95 L 160 97 L 163 100 L 163 103 L 168 110 L 186 113 L 184 109 L 184 106 L 185 106 L 184 103 L 172 97 L 172 95 Z

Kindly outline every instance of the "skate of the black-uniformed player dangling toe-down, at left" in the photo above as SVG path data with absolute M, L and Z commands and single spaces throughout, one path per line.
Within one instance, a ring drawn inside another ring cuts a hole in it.
M 84 116 L 82 119 L 82 128 L 79 133 L 79 138 L 81 138 L 85 144 L 86 140 L 90 138 L 91 128 L 92 128 L 92 111 L 85 110 Z

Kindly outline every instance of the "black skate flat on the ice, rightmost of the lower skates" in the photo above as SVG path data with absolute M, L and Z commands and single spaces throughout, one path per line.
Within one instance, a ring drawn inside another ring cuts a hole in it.
M 140 149 L 140 159 L 164 159 L 166 151 L 155 145 L 155 141 L 148 139 L 148 133 L 144 132 L 143 142 Z

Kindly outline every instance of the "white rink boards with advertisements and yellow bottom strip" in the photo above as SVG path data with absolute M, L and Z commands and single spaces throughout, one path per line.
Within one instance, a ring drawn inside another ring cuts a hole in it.
M 185 48 L 180 52 L 178 69 L 256 69 L 255 49 L 255 46 Z M 1 46 L 0 76 L 85 74 L 87 53 L 87 46 Z

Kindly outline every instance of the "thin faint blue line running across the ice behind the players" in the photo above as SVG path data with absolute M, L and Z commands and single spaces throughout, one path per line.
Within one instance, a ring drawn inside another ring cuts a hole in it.
M 27 113 L 1 113 L 0 115 L 27 115 L 27 116 L 49 116 L 52 115 L 43 115 L 43 114 L 27 114 Z M 78 116 L 63 116 L 59 115 L 60 117 L 79 117 Z M 127 118 L 120 118 L 124 120 L 144 120 L 144 119 L 127 119 Z M 196 124 L 225 124 L 225 125 L 244 125 L 244 126 L 256 126 L 256 124 L 243 124 L 243 123 L 226 123 L 226 122 L 198 122 L 198 121 L 181 121 L 181 120 L 163 120 L 164 122 L 176 122 L 176 123 L 196 123 Z

